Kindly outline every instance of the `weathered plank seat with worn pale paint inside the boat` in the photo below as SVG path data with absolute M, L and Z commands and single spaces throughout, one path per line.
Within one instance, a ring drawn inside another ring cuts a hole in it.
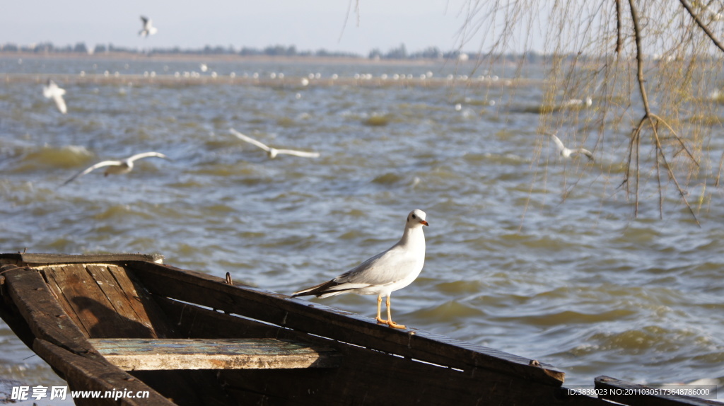
M 90 339 L 125 371 L 329 368 L 337 353 L 279 339 Z

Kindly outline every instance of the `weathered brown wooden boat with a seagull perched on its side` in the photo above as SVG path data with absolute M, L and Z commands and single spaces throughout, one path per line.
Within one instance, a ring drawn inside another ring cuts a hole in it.
M 610 405 L 571 393 L 552 365 L 390 329 L 161 260 L 0 254 L 0 316 L 71 390 L 148 391 L 143 399 L 77 404 Z M 615 401 L 715 404 L 694 397 Z

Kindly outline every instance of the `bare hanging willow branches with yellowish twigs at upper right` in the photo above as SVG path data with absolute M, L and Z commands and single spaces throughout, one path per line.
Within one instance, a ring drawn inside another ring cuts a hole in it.
M 598 131 L 597 147 L 618 148 L 618 143 L 603 141 L 625 131 L 628 143 L 622 147 L 628 149 L 620 154 L 621 186 L 626 185 L 634 215 L 639 215 L 639 205 L 647 196 L 642 192 L 651 180 L 657 186 L 661 218 L 670 189 L 675 190 L 675 201 L 683 203 L 699 224 L 686 189 L 699 176 L 711 177 L 718 185 L 724 170 L 722 153 L 718 172 L 703 173 L 715 164 L 702 154 L 704 148 L 717 145 L 707 143 L 707 138 L 718 135 L 707 120 L 721 125 L 717 103 L 724 103 L 724 97 L 701 94 L 723 81 L 717 75 L 724 62 L 724 44 L 717 35 L 724 33 L 724 19 L 718 13 L 722 10 L 689 1 L 694 0 L 468 0 L 466 9 L 471 12 L 466 22 L 476 22 L 476 29 L 468 33 L 481 33 L 492 44 L 490 55 L 507 52 L 510 43 L 519 43 L 513 38 L 516 32 L 524 33 L 527 46 L 531 38 L 543 38 L 547 88 L 539 132 L 568 130 L 583 133 L 585 141 L 587 133 Z M 479 14 L 484 14 L 482 19 L 473 18 Z M 544 33 L 531 34 L 531 27 L 542 22 L 547 24 L 541 27 Z M 480 28 L 484 26 L 489 27 L 487 33 Z M 460 43 L 470 40 L 463 38 Z M 661 56 L 652 58 L 653 52 L 647 54 L 652 49 Z M 559 97 L 580 98 L 582 90 L 594 97 L 594 105 L 583 114 L 545 108 Z M 627 120 L 631 120 L 631 130 L 619 129 L 627 126 Z M 696 182 L 706 185 L 706 179 Z

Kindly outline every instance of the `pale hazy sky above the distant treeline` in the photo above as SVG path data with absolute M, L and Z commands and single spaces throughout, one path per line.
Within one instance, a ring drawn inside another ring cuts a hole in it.
M 296 46 L 366 56 L 405 44 L 408 52 L 459 46 L 463 0 L 24 0 L 4 1 L 0 44 L 85 43 L 128 48 Z M 359 4 L 359 12 L 355 6 Z M 140 15 L 158 33 L 141 38 Z M 346 24 L 345 24 L 346 20 Z M 480 43 L 471 41 L 472 51 Z M 463 51 L 467 51 L 463 47 Z

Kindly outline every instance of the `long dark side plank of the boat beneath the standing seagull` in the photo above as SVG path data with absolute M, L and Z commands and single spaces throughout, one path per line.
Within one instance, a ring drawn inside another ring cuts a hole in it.
M 426 331 L 390 329 L 374 319 L 327 308 L 287 295 L 253 287 L 230 286 L 224 279 L 153 263 L 129 263 L 144 286 L 156 295 L 173 297 L 274 323 L 300 331 L 349 342 L 403 357 L 452 368 L 490 368 L 528 378 L 539 384 L 560 386 L 564 373 L 551 365 L 529 365 L 531 360 Z

